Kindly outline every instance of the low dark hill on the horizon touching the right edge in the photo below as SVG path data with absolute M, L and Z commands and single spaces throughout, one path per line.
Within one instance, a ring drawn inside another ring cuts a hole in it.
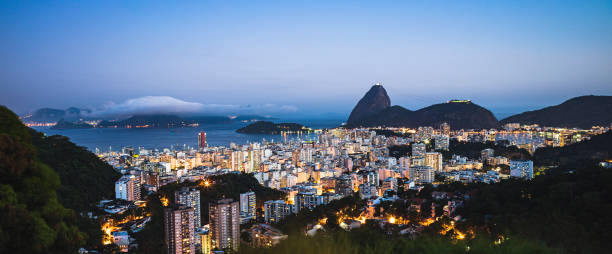
M 609 126 L 612 123 L 612 96 L 580 96 L 559 105 L 527 111 L 501 120 L 501 123 L 539 124 L 540 126 Z

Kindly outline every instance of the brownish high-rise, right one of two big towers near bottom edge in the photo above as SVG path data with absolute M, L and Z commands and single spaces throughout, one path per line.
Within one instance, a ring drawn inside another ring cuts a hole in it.
M 239 204 L 233 199 L 210 203 L 210 231 L 213 248 L 238 250 L 240 246 Z

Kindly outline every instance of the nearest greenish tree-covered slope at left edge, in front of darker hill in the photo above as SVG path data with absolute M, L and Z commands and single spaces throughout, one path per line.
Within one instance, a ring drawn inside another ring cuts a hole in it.
M 57 198 L 60 177 L 39 160 L 30 131 L 0 107 L 0 252 L 74 253 L 87 236 Z

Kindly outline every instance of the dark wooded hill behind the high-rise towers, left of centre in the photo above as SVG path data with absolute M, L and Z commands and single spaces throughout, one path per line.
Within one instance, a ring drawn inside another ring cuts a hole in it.
M 174 191 L 182 187 L 195 187 L 200 190 L 200 209 L 202 224 L 208 224 L 208 204 L 222 198 L 239 200 L 240 193 L 255 192 L 257 207 L 267 200 L 283 199 L 284 192 L 260 185 L 250 174 L 225 174 L 210 176 L 206 186 L 204 182 L 184 182 L 165 185 L 153 195 L 147 197 L 147 209 L 151 213 L 151 222 L 142 231 L 134 234 L 138 243 L 138 253 L 165 253 L 164 217 L 161 198 L 167 198 L 169 204 L 174 202 Z

